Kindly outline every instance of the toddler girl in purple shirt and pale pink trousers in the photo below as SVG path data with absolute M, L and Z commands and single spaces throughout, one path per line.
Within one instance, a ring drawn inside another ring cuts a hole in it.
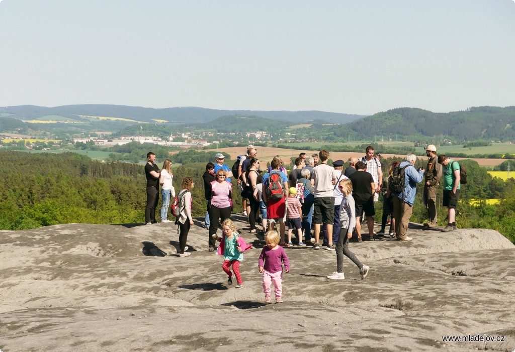
M 273 281 L 276 303 L 282 303 L 283 293 L 283 263 L 284 272 L 289 272 L 289 260 L 284 248 L 279 246 L 279 234 L 277 231 L 268 231 L 265 234 L 266 246 L 259 256 L 259 272 L 263 273 L 263 292 L 265 303 L 270 303 L 270 287 Z

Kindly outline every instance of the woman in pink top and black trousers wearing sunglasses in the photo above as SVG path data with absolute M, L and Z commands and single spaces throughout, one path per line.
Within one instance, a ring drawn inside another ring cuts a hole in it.
M 231 216 L 232 212 L 232 190 L 231 183 L 226 181 L 227 174 L 219 169 L 215 174 L 215 180 L 211 182 L 211 197 L 208 200 L 209 212 L 209 235 L 216 238 L 219 218 L 222 223 Z

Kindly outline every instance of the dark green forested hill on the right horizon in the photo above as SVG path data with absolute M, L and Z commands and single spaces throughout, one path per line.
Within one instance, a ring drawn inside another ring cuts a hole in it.
M 334 127 L 336 136 L 357 133 L 375 136 L 451 136 L 459 140 L 515 139 L 515 106 L 471 107 L 465 111 L 432 113 L 418 108 L 397 108 Z

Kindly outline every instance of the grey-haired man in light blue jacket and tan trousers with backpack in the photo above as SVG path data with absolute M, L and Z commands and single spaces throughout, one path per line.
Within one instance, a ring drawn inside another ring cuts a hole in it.
M 410 241 L 412 238 L 406 235 L 408 230 L 409 218 L 413 211 L 415 194 L 417 193 L 417 183 L 422 181 L 424 169 L 415 169 L 417 156 L 413 153 L 406 155 L 404 161 L 397 166 L 399 175 L 404 176 L 404 189 L 401 193 L 393 192 L 393 217 L 395 219 L 395 230 L 397 239 L 400 241 Z M 394 174 L 396 172 L 394 171 Z

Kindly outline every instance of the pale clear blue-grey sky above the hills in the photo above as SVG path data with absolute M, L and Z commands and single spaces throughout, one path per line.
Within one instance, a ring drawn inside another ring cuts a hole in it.
M 0 0 L 0 106 L 515 105 L 515 0 Z

